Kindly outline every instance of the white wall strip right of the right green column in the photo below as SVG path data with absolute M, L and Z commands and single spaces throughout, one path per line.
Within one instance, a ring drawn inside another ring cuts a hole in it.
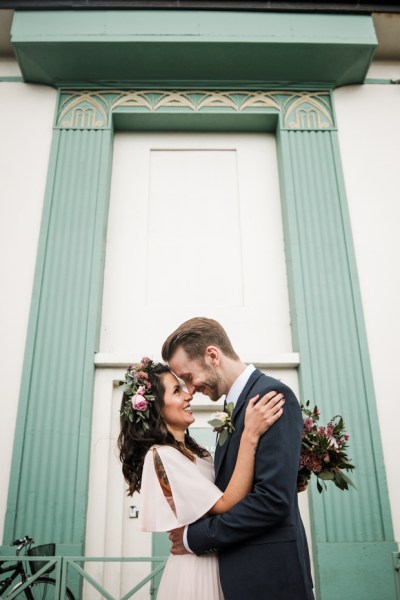
M 400 63 L 374 63 L 374 79 L 400 79 Z M 367 83 L 334 93 L 395 539 L 400 542 L 397 380 L 400 339 L 400 87 Z

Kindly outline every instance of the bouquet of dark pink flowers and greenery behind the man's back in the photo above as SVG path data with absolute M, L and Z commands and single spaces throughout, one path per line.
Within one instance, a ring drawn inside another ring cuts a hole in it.
M 303 438 L 301 442 L 300 466 L 298 483 L 308 482 L 311 475 L 317 477 L 317 489 L 322 492 L 326 489 L 326 481 L 333 483 L 341 490 L 348 490 L 349 485 L 355 485 L 343 469 L 354 469 L 347 456 L 349 434 L 346 433 L 343 419 L 340 415 L 332 417 L 324 427 L 318 425 L 320 411 L 317 406 L 313 410 L 301 405 L 305 415 Z M 321 485 L 322 482 L 322 485 Z

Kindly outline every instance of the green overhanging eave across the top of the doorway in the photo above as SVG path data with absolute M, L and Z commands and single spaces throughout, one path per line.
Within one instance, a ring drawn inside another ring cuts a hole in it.
M 240 87 L 362 83 L 370 16 L 207 11 L 16 12 L 27 82 L 53 86 Z

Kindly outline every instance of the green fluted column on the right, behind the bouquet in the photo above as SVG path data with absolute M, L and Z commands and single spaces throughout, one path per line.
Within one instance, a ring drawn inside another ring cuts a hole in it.
M 344 416 L 358 488 L 320 495 L 311 483 L 316 588 L 320 600 L 391 600 L 396 544 L 337 133 L 303 117 L 278 133 L 301 398 L 321 422 Z

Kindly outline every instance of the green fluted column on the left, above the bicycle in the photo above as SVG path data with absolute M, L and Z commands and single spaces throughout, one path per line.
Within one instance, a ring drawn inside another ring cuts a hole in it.
M 111 154 L 109 128 L 54 131 L 4 544 L 83 550 Z

